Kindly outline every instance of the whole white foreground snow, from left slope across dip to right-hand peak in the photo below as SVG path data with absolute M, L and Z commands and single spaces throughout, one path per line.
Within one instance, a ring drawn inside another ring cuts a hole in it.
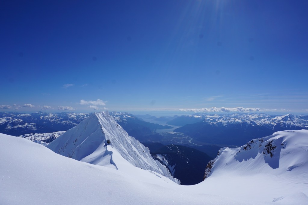
M 308 131 L 279 132 L 264 143 L 270 138 L 284 146 L 279 167 L 254 146 L 245 156 L 236 155 L 244 146 L 225 148 L 205 181 L 181 186 L 125 160 L 116 170 L 0 134 L 0 204 L 308 204 Z

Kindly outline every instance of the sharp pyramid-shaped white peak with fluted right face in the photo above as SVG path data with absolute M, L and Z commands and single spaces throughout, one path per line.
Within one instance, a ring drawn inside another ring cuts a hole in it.
M 119 170 L 123 161 L 127 161 L 135 167 L 155 171 L 179 183 L 166 167 L 151 157 L 148 148 L 128 136 L 107 111 L 90 115 L 47 147 L 63 156 Z

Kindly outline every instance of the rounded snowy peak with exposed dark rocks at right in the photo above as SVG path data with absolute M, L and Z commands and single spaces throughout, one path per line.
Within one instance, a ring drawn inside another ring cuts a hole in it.
M 300 177 L 308 181 L 308 130 L 279 131 L 238 148 L 222 148 L 205 178 L 223 171 Z

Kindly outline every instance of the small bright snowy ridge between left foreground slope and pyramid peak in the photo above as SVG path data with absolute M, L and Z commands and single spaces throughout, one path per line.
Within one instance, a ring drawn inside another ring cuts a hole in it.
M 51 133 L 30 133 L 26 135 L 19 135 L 18 137 L 25 138 L 35 143 L 47 146 L 53 140 L 57 139 L 66 131 L 51 132 Z

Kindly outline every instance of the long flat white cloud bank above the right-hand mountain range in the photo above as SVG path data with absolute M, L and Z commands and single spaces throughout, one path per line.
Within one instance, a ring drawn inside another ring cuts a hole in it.
M 260 108 L 244 108 L 244 107 L 211 107 L 200 109 L 180 109 L 180 111 L 189 112 L 257 112 L 261 111 Z

